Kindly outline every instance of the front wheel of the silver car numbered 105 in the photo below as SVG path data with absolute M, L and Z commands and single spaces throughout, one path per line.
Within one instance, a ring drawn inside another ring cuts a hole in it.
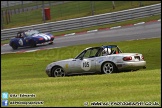
M 61 67 L 54 67 L 51 72 L 52 72 L 53 77 L 64 77 L 65 76 L 65 72 Z

